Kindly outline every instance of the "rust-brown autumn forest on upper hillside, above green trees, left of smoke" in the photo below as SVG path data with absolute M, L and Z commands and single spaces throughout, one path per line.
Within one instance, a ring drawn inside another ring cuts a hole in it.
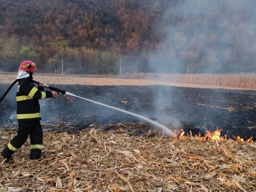
M 149 52 L 163 37 L 163 13 L 175 0 L 0 1 L 1 36 L 26 36 L 43 45 L 68 39 L 71 46 Z

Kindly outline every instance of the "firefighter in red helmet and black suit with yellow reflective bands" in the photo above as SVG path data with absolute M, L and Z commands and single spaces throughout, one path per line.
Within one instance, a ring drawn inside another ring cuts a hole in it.
M 15 153 L 30 137 L 30 159 L 39 159 L 45 157 L 41 154 L 43 143 L 43 130 L 40 124 L 40 105 L 39 99 L 55 97 L 58 93 L 55 91 L 45 91 L 40 83 L 38 87 L 31 83 L 32 75 L 36 70 L 36 64 L 25 60 L 20 64 L 17 79 L 20 79 L 16 93 L 17 100 L 17 135 L 8 143 L 1 152 L 1 155 L 8 163 Z

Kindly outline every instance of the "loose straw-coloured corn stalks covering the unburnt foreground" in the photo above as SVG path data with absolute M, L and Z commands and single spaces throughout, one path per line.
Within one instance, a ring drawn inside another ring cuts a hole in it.
M 47 158 L 28 160 L 27 142 L 12 164 L 0 163 L 0 190 L 256 191 L 253 143 L 123 132 L 44 132 Z M 14 135 L 0 129 L 0 148 Z

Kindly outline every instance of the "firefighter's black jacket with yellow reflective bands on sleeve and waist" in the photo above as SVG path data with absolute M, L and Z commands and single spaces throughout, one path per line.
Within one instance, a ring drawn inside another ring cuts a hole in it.
M 16 93 L 18 122 L 41 119 L 39 99 L 52 97 L 51 91 L 37 88 L 28 78 L 19 81 Z

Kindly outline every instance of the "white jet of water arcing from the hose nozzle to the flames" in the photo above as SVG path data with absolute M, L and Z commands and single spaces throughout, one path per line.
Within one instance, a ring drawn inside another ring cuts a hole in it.
M 127 114 L 132 115 L 132 116 L 136 116 L 136 117 L 138 117 L 138 118 L 140 118 L 140 119 L 146 120 L 146 121 L 148 121 L 148 122 L 150 122 L 150 123 L 156 125 L 156 126 L 159 127 L 159 128 L 162 128 L 163 131 L 165 132 L 165 134 L 167 134 L 167 135 L 170 136 L 170 137 L 174 137 L 174 132 L 173 132 L 172 130 L 168 129 L 167 127 L 165 127 L 164 125 L 162 125 L 162 124 L 160 124 L 160 123 L 158 123 L 158 122 L 156 122 L 156 121 L 153 121 L 153 120 L 151 120 L 151 119 L 148 119 L 147 117 L 144 117 L 144 116 L 141 116 L 141 115 L 137 115 L 137 114 L 135 114 L 135 113 L 132 113 L 132 112 L 129 112 L 129 111 L 125 111 L 125 110 L 123 110 L 123 109 L 111 107 L 111 106 L 109 106 L 109 105 L 106 105 L 106 104 L 103 104 L 103 103 L 99 103 L 99 102 L 97 102 L 97 101 L 85 99 L 85 98 L 83 98 L 83 97 L 79 97 L 79 96 L 74 95 L 74 94 L 72 94 L 72 93 L 70 93 L 70 92 L 67 92 L 67 91 L 66 91 L 66 95 L 71 95 L 71 96 L 74 96 L 74 97 L 77 97 L 77 98 L 80 98 L 80 99 L 84 99 L 84 100 L 87 100 L 87 101 L 90 101 L 90 102 L 93 102 L 93 103 L 96 103 L 96 104 L 99 104 L 99 105 L 102 105 L 102 106 L 105 106 L 105 107 L 108 107 L 108 108 L 111 108 L 111 109 L 114 109 L 114 110 L 117 110 L 117 111 L 121 111 L 121 112 L 123 112 L 123 113 L 127 113 Z

